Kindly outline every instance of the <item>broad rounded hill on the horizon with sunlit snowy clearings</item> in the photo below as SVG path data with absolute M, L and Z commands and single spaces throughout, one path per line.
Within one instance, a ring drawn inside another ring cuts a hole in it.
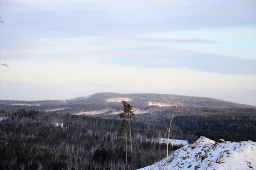
M 121 93 L 96 93 L 81 100 L 72 101 L 74 104 L 116 105 L 121 104 L 121 99 L 133 106 L 195 106 L 216 108 L 251 108 L 255 106 L 227 102 L 206 97 L 190 97 L 175 94 L 121 94 Z M 69 101 L 71 102 L 71 101 Z

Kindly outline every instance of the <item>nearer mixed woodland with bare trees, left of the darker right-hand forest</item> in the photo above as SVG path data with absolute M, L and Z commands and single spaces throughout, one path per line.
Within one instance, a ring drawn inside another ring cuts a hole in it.
M 21 109 L 1 111 L 0 169 L 124 169 L 123 138 L 117 137 L 121 120 L 46 113 Z M 56 125 L 56 123 L 64 123 Z M 166 144 L 151 142 L 161 134 L 155 125 L 132 122 L 133 168 L 164 158 Z M 170 151 L 180 146 L 171 146 Z M 131 168 L 128 152 L 129 169 Z

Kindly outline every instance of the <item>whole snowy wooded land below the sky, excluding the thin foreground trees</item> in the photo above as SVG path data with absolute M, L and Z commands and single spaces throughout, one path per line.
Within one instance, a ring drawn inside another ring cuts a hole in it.
M 173 94 L 96 93 L 66 100 L 0 100 L 0 169 L 124 169 L 124 138 L 116 136 L 121 100 L 135 113 L 129 170 L 165 168 L 163 118 L 170 121 L 174 111 L 169 169 L 255 168 L 255 142 L 248 141 L 256 141 L 255 106 Z

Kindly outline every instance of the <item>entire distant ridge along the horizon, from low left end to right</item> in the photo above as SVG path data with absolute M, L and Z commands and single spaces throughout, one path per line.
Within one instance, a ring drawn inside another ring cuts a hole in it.
M 190 97 L 176 94 L 154 94 L 154 93 L 134 93 L 121 94 L 113 92 L 101 92 L 89 97 L 76 97 L 67 100 L 44 100 L 44 101 L 12 101 L 0 100 L 0 104 L 9 105 L 121 105 L 121 100 L 126 100 L 132 106 L 193 106 L 193 107 L 213 107 L 213 108 L 255 108 L 256 106 L 227 102 L 220 99 L 208 97 Z

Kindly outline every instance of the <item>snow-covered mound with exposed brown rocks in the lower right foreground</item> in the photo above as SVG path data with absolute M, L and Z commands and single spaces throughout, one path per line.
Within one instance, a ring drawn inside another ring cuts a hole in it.
M 140 170 L 164 170 L 166 158 Z M 200 137 L 168 156 L 168 170 L 253 170 L 256 168 L 256 142 L 214 142 Z

